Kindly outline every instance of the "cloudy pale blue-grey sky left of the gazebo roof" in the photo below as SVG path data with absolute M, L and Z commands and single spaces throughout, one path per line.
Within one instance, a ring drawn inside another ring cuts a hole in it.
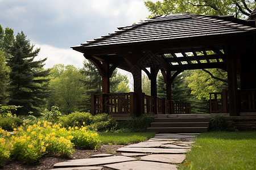
M 154 1 L 155 2 L 155 1 Z M 149 15 L 143 0 L 0 0 L 0 24 L 23 31 L 47 57 L 82 67 L 84 57 L 70 47 L 112 33 Z

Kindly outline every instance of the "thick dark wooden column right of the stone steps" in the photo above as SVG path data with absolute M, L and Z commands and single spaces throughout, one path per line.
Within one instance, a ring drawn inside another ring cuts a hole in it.
M 229 114 L 239 116 L 238 91 L 237 91 L 237 59 L 232 46 L 227 50 L 228 90 L 229 90 Z

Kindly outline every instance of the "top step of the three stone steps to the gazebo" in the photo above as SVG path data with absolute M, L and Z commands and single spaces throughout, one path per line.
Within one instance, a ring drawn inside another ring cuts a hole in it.
M 154 118 L 154 122 L 209 122 L 209 118 Z

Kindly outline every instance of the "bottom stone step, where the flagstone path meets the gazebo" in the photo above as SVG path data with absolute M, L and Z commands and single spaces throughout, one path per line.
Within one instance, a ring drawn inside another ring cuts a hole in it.
M 191 128 L 147 128 L 147 131 L 164 132 L 164 133 L 202 133 L 207 132 L 207 127 Z

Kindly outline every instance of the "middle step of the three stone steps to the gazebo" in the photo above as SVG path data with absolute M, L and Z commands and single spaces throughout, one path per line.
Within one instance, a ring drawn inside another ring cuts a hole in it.
M 151 128 L 209 127 L 209 122 L 152 122 Z

